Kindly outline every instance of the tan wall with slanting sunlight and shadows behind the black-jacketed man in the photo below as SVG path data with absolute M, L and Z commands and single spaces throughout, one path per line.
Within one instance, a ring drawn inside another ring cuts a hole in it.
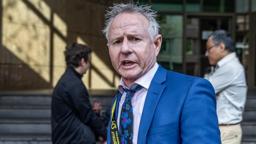
M 119 76 L 108 55 L 104 15 L 109 0 L 0 0 L 0 90 L 53 88 L 72 42 L 93 48 L 83 77 L 91 89 L 112 89 Z

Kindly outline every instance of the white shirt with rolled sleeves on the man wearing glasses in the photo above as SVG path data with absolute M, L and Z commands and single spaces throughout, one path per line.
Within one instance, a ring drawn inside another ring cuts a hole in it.
M 215 68 L 204 78 L 208 79 L 217 99 L 217 116 L 219 124 L 236 124 L 243 120 L 247 96 L 245 70 L 236 53 L 226 55 L 218 61 Z

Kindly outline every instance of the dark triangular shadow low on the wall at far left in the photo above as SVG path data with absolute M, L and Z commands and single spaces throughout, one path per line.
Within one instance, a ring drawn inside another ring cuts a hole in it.
M 16 63 L 0 63 L 0 90 L 50 89 L 52 85 L 45 81 L 31 66 L 1 46 L 1 55 Z

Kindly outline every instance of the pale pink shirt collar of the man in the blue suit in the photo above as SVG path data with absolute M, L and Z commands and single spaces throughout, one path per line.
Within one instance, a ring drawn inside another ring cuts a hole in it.
M 144 74 L 140 78 L 137 78 L 132 84 L 129 85 L 129 87 L 126 87 L 124 85 L 124 81 L 121 78 L 120 82 L 119 82 L 119 85 L 118 85 L 118 90 L 121 93 L 124 93 L 124 89 L 133 89 L 137 85 L 141 85 L 144 88 L 148 89 L 154 75 L 156 74 L 158 66 L 159 66 L 158 63 L 156 62 L 155 65 L 150 70 L 148 70 L 148 72 L 146 72 L 146 74 Z

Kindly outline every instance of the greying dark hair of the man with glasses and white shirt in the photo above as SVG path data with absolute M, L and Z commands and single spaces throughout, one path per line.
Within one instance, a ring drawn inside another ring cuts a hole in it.
M 215 45 L 219 45 L 222 42 L 225 44 L 225 48 L 228 52 L 234 51 L 233 39 L 227 31 L 216 30 L 210 36 L 212 36 L 211 41 L 213 41 Z

